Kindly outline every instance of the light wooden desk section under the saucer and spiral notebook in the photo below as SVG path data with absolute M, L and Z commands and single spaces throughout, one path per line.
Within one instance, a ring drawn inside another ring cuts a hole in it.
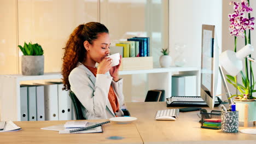
M 88 121 L 88 120 L 86 120 Z M 93 120 L 89 122 L 104 122 Z M 59 131 L 42 130 L 51 125 L 64 124 L 66 121 L 14 122 L 22 128 L 20 131 L 0 133 L 0 143 L 143 143 L 135 123 L 108 123 L 102 126 L 103 133 L 59 134 Z M 122 140 L 109 140 L 109 136 L 121 136 Z

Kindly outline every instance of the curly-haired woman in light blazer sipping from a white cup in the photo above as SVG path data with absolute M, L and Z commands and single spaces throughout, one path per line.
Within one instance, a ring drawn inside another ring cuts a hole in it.
M 108 29 L 101 23 L 89 22 L 74 29 L 65 47 L 64 88 L 71 89 L 82 103 L 86 119 L 123 116 L 123 79 L 118 76 L 121 56 L 119 65 L 111 67 L 109 46 Z

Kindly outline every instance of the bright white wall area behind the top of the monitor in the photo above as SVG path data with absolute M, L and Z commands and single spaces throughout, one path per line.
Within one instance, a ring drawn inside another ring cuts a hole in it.
M 201 67 L 202 24 L 216 25 L 222 49 L 222 0 L 171 0 L 169 9 L 169 48 L 173 59 L 174 45 L 186 44 L 182 55 L 187 61 L 185 65 Z

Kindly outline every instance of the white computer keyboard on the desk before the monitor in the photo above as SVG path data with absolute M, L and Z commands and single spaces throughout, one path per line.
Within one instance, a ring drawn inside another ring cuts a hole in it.
M 179 115 L 179 109 L 158 110 L 155 115 L 156 120 L 175 120 Z

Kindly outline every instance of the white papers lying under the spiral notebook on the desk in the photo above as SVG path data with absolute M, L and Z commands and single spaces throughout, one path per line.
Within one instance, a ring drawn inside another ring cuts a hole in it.
M 88 122 L 86 124 L 86 127 L 89 127 L 89 126 L 95 125 L 95 124 L 98 124 L 98 123 L 89 123 Z M 75 131 L 73 133 L 69 133 L 69 130 L 73 130 L 73 129 L 77 129 L 77 128 L 65 128 L 64 124 L 53 125 L 53 126 L 45 127 L 45 128 L 41 128 L 41 129 L 59 131 L 59 134 L 83 134 L 83 133 L 102 133 L 103 132 L 102 127 L 99 126 L 99 127 L 91 128 L 88 130 L 81 130 L 81 131 Z

